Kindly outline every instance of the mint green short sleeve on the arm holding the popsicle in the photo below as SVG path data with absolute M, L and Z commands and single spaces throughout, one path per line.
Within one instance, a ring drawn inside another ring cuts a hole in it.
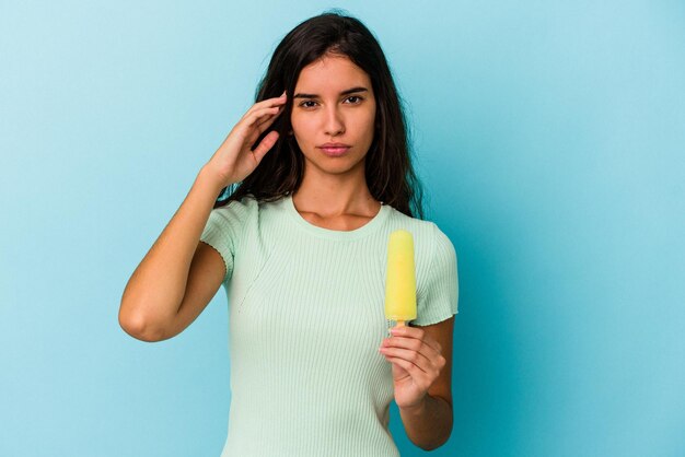
M 417 296 L 415 326 L 441 323 L 457 314 L 456 253 L 448 236 L 433 226 L 433 249 L 422 293 Z

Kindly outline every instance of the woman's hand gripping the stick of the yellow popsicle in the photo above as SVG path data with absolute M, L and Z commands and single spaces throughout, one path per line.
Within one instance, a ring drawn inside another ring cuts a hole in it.
M 379 351 L 393 364 L 395 402 L 399 408 L 421 405 L 446 361 L 440 343 L 418 327 L 394 327 Z

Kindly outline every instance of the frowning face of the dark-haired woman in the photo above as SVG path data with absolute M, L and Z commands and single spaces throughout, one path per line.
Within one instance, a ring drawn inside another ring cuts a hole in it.
M 324 56 L 302 69 L 292 103 L 290 121 L 305 169 L 363 169 L 375 121 L 375 95 L 367 72 L 347 57 Z

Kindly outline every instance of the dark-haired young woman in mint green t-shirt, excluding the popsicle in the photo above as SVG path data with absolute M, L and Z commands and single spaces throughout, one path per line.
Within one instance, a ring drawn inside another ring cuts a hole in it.
M 131 276 L 121 327 L 172 338 L 224 285 L 222 456 L 397 456 L 393 399 L 411 442 L 442 445 L 456 256 L 436 224 L 414 218 L 418 183 L 379 43 L 357 19 L 312 17 L 279 44 L 256 99 Z M 414 235 L 418 317 L 387 337 L 397 228 Z

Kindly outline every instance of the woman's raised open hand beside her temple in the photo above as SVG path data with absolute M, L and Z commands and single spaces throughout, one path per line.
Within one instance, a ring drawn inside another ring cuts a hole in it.
M 286 92 L 280 97 L 255 103 L 233 127 L 205 169 L 221 181 L 221 188 L 239 183 L 255 171 L 262 159 L 276 144 L 278 132 L 271 131 L 257 144 L 251 147 L 269 128 L 286 106 Z

